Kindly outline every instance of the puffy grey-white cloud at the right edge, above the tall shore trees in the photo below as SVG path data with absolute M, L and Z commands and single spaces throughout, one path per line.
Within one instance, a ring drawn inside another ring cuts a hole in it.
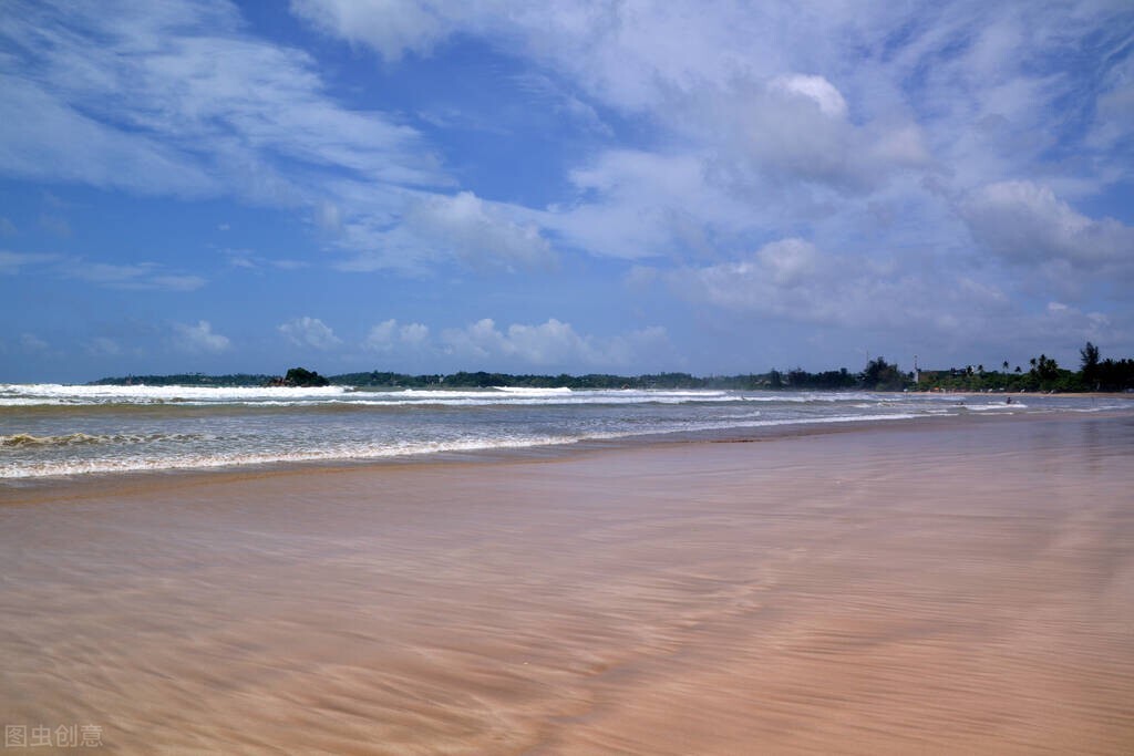
M 959 212 L 976 241 L 1009 262 L 1134 265 L 1134 228 L 1088 218 L 1043 185 L 990 184 L 966 196 Z

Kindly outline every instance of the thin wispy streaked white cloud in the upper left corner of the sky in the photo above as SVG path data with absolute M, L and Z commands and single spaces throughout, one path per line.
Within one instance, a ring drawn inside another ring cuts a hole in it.
M 344 175 L 450 184 L 417 131 L 340 105 L 311 57 L 246 35 L 227 2 L 14 2 L 0 93 L 22 118 L 0 121 L 0 171 L 304 205 L 323 222 Z

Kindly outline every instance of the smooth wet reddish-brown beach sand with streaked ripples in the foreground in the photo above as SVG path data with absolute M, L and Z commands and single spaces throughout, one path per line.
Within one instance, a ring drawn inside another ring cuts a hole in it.
M 116 753 L 1132 753 L 1132 451 L 1128 416 L 941 418 L 9 487 L 0 721 Z

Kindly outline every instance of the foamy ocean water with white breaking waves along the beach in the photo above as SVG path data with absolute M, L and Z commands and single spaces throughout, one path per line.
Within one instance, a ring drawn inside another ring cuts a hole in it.
M 0 384 L 0 478 L 361 461 L 957 415 L 1134 410 L 1118 398 L 711 390 Z

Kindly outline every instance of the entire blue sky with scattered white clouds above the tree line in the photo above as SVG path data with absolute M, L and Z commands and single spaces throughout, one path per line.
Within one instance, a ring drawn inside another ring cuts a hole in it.
M 1134 5 L 0 3 L 0 381 L 1134 356 Z

